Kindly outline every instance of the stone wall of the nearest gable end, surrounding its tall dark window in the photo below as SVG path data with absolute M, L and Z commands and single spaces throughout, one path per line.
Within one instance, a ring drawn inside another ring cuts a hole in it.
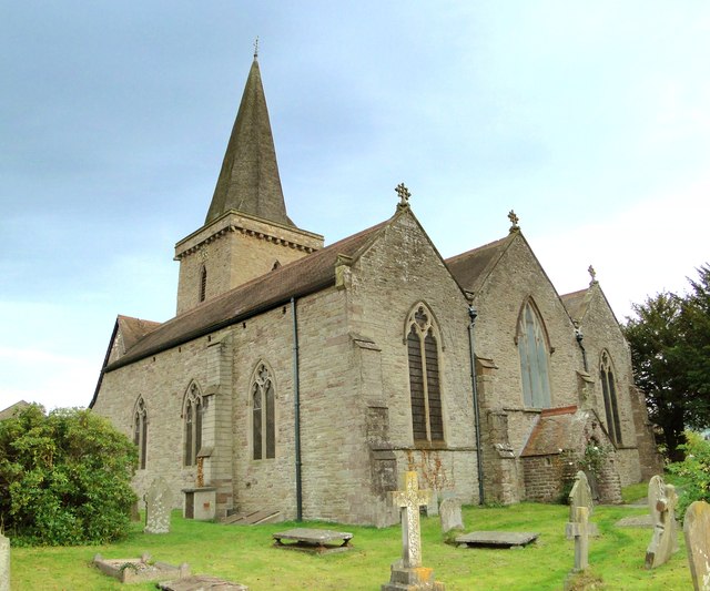
M 420 472 L 420 486 L 477 500 L 468 305 L 417 222 L 408 214 L 392 223 L 353 265 L 348 313 L 353 333 L 382 351 L 382 386 L 376 397 L 386 409 L 385 444 L 396 471 Z M 406 320 L 418 303 L 435 317 L 440 335 L 440 388 L 445 446 L 415 447 L 412 432 Z

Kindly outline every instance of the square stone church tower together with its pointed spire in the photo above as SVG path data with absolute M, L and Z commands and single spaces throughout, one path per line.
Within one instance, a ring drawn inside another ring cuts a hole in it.
M 178 314 L 322 247 L 286 214 L 254 54 L 204 225 L 175 245 Z

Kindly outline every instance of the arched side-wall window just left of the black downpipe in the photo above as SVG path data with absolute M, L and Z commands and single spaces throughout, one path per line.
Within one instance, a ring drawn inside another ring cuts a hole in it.
M 260 363 L 252 379 L 252 447 L 253 458 L 276 457 L 276 417 L 274 379 L 264 363 Z

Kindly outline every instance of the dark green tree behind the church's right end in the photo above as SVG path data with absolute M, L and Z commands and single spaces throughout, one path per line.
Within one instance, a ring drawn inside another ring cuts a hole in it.
M 684 429 L 710 425 L 710 266 L 698 272 L 688 295 L 663 292 L 635 304 L 637 317 L 623 328 L 636 384 L 674 461 Z

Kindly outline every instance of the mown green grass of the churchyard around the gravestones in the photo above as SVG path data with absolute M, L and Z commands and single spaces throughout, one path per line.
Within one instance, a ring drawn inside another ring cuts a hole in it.
M 661 568 L 643 568 L 650 529 L 621 529 L 613 523 L 643 508 L 597 507 L 592 521 L 601 536 L 590 540 L 591 573 L 607 590 L 692 589 L 682 531 L 680 551 Z M 423 518 L 424 565 L 455 590 L 560 590 L 574 563 L 574 542 L 565 539 L 568 507 L 521 503 L 506 508 L 465 507 L 467 531 L 536 531 L 538 541 L 523 549 L 458 549 L 443 542 L 439 519 Z M 271 534 L 291 527 L 337 529 L 354 533 L 353 549 L 326 556 L 280 550 Z M 105 547 L 13 548 L 12 590 L 154 589 L 152 583 L 122 585 L 91 565 L 95 553 L 104 558 L 135 558 L 150 552 L 155 560 L 187 562 L 193 573 L 223 577 L 252 591 L 374 590 L 389 579 L 389 564 L 400 556 L 399 527 L 385 529 L 304 522 L 265 526 L 221 526 L 184 520 L 173 513 L 172 530 L 163 536 L 142 533 Z

